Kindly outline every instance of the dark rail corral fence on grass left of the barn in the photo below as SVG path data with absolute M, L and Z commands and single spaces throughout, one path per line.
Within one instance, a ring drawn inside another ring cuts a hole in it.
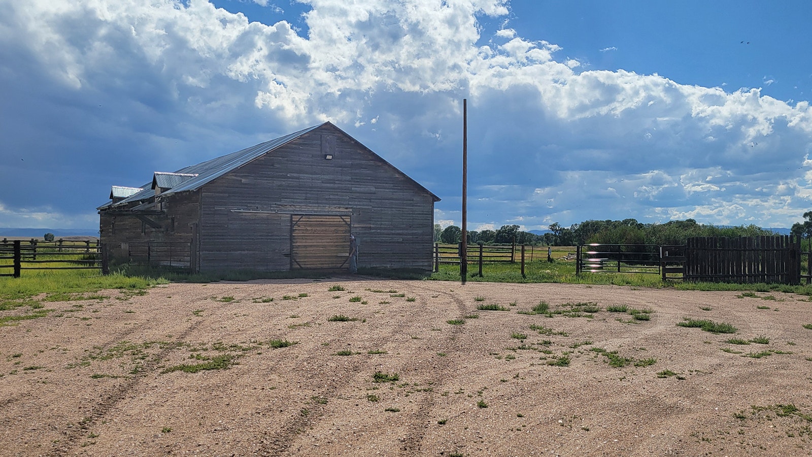
M 0 241 L 0 276 L 19 277 L 23 270 L 99 270 L 106 274 L 106 258 L 98 241 L 4 238 Z

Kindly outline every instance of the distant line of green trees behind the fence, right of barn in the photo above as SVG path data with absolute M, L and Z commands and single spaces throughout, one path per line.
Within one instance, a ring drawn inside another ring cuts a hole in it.
M 812 233 L 812 211 L 806 227 Z M 806 217 L 806 214 L 804 215 Z M 797 224 L 798 225 L 798 224 Z M 525 244 L 544 246 L 577 246 L 590 243 L 635 245 L 685 245 L 689 237 L 758 237 L 775 235 L 754 224 L 720 227 L 698 224 L 696 220 L 672 220 L 664 224 L 642 224 L 634 219 L 585 220 L 564 227 L 550 224 L 550 232 L 536 234 L 524 232 L 518 225 L 503 225 L 497 230 L 469 231 L 469 244 Z M 795 226 L 793 226 L 793 233 Z M 801 229 L 799 228 L 799 232 Z M 456 244 L 462 240 L 462 229 L 456 225 L 442 228 L 434 224 L 434 242 Z

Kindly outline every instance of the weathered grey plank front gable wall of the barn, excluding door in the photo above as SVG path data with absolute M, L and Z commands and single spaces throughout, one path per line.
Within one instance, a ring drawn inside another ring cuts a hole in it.
M 329 124 L 199 192 L 201 271 L 289 269 L 294 214 L 348 216 L 360 267 L 431 268 L 433 196 Z

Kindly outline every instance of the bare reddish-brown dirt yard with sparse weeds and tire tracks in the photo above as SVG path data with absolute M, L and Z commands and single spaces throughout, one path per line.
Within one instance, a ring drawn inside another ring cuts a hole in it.
M 0 327 L 0 455 L 812 455 L 812 302 L 739 295 L 335 277 L 43 302 Z

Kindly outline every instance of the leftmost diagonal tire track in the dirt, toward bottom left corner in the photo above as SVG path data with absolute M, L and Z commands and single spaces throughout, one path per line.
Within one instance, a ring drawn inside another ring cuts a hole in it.
M 183 333 L 179 334 L 179 341 L 183 341 L 186 337 L 188 337 L 189 333 L 192 333 L 197 327 L 200 325 L 200 321 L 191 324 L 187 329 L 184 330 Z M 108 348 L 113 346 L 116 343 L 122 342 L 124 337 L 127 337 L 131 333 L 135 332 L 135 328 L 129 329 L 126 332 L 119 333 L 116 338 L 112 339 L 109 343 L 102 348 Z M 143 327 L 140 328 L 143 330 Z M 51 456 L 62 456 L 68 455 L 71 450 L 76 447 L 77 442 L 80 441 L 81 437 L 83 437 L 87 432 L 88 429 L 92 424 L 94 424 L 97 420 L 103 419 L 107 413 L 112 410 L 116 404 L 118 404 L 123 398 L 127 397 L 127 394 L 134 390 L 137 385 L 140 384 L 140 381 L 145 377 L 147 372 L 151 372 L 161 360 L 164 359 L 167 355 L 169 355 L 173 350 L 176 350 L 175 346 L 166 346 L 165 349 L 158 352 L 157 355 L 154 355 L 148 362 L 145 363 L 144 369 L 142 374 L 132 376 L 131 378 L 127 379 L 121 385 L 114 387 L 113 391 L 106 396 L 106 398 L 102 399 L 101 402 L 97 403 L 88 413 L 86 420 L 83 419 L 80 421 L 78 427 L 73 427 L 66 432 L 64 432 L 64 440 L 60 442 L 63 446 L 60 446 L 54 450 L 51 450 L 46 455 Z

